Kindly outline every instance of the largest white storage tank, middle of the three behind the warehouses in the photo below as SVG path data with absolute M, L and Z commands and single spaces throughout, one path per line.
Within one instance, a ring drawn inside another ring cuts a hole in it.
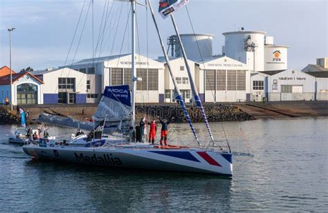
M 224 32 L 226 56 L 248 64 L 250 70 L 264 70 L 264 37 L 266 32 Z M 255 62 L 255 64 L 254 64 Z

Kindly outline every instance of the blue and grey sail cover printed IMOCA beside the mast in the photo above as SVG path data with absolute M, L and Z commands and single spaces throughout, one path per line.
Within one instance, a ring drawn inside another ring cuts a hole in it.
M 114 85 L 104 88 L 104 94 L 93 115 L 95 121 L 127 121 L 131 119 L 131 92 L 129 85 Z

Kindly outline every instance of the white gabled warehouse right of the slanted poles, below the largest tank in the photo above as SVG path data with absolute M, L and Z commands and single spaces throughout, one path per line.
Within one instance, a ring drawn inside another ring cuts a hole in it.
M 247 101 L 250 97 L 248 65 L 226 56 L 198 61 L 196 80 L 205 102 Z

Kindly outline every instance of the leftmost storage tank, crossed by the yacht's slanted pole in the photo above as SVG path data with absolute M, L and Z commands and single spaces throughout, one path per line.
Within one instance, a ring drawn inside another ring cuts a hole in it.
M 199 61 L 202 58 L 210 58 L 213 55 L 212 41 L 213 34 L 180 34 L 183 47 L 188 59 Z M 176 35 L 169 37 L 167 45 L 171 47 L 172 57 L 182 57 L 179 41 Z

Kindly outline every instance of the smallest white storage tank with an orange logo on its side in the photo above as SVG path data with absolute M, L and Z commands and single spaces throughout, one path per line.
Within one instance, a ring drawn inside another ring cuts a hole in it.
M 287 50 L 286 45 L 265 45 L 264 47 L 264 69 L 287 70 Z

